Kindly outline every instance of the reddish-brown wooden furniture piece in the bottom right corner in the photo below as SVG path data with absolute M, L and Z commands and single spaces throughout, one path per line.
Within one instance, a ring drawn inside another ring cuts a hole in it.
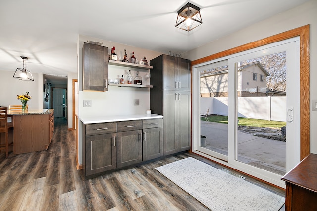
M 286 182 L 286 211 L 317 210 L 317 155 L 309 154 L 282 180 Z

